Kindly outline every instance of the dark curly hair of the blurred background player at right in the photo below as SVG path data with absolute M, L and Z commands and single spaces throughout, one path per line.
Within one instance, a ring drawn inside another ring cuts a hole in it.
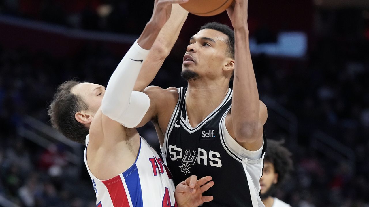
M 284 141 L 267 140 L 264 162 L 270 162 L 278 173 L 278 182 L 282 183 L 286 176 L 293 170 L 292 153 L 282 144 Z

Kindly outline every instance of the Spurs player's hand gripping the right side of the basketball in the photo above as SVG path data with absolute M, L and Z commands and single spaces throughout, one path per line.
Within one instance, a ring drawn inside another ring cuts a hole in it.
M 232 22 L 232 27 L 236 29 L 248 28 L 248 0 L 234 0 L 232 5 L 227 8 L 228 17 Z

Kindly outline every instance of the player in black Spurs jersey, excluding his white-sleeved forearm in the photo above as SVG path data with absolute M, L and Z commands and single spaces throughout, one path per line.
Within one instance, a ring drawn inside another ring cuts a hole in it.
M 214 200 L 204 207 L 264 206 L 259 179 L 267 109 L 259 101 L 247 10 L 247 0 L 235 0 L 227 9 L 234 31 L 213 22 L 190 38 L 181 73 L 187 88 L 144 91 L 151 104 L 138 126 L 154 123 L 175 183 L 189 175 L 212 176 L 215 185 L 204 195 Z

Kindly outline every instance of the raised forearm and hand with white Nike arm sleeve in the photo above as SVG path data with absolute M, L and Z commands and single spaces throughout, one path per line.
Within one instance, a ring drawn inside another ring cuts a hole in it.
M 135 127 L 140 122 L 150 106 L 150 100 L 146 94 L 132 92 L 142 62 L 147 58 L 148 50 L 151 49 L 162 27 L 168 21 L 172 3 L 186 1 L 155 0 L 151 20 L 110 77 L 101 103 L 104 115 L 128 128 Z

